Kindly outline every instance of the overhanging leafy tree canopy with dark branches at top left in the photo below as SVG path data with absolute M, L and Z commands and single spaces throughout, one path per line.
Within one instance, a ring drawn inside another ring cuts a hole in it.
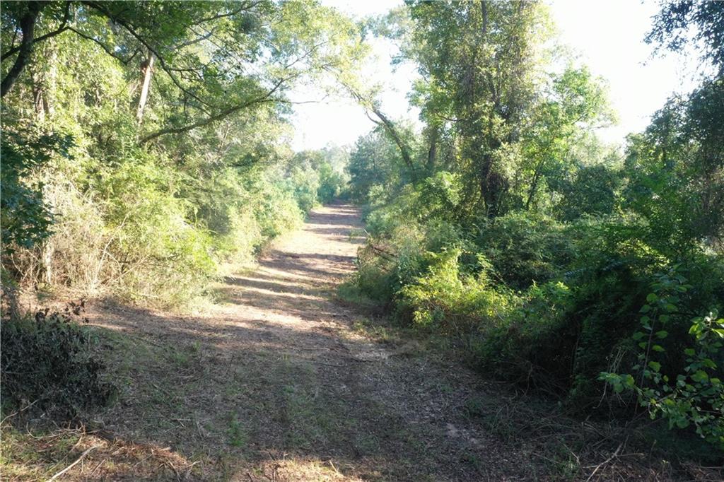
M 3 78 L 2 96 L 35 62 L 34 47 L 70 32 L 123 65 L 138 59 L 139 121 L 152 75 L 164 76 L 167 85 L 159 94 L 171 109 L 156 117 L 160 122 L 148 123 L 140 143 L 265 103 L 287 103 L 290 83 L 354 62 L 361 51 L 355 24 L 315 1 L 6 3 L 2 22 L 9 48 L 2 59 L 14 63 Z M 40 32 L 45 33 L 36 35 Z

